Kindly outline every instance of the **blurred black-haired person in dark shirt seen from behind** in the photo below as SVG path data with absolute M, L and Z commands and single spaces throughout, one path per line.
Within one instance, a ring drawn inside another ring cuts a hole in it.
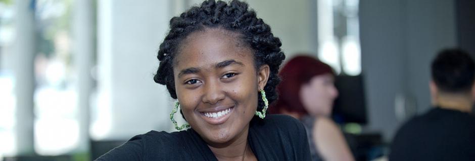
M 390 160 L 475 160 L 475 65 L 460 49 L 441 51 L 432 62 L 433 108 L 406 122 Z

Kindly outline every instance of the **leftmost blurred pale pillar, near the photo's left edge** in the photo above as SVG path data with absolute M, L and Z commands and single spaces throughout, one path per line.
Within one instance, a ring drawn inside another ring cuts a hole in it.
M 33 92 L 35 89 L 34 56 L 34 1 L 15 1 L 16 40 L 15 73 L 15 134 L 18 155 L 30 155 L 33 148 Z

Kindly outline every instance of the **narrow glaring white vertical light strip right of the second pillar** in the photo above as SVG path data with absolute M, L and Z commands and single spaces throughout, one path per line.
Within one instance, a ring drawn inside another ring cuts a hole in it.
M 90 97 L 91 125 L 89 134 L 93 140 L 107 139 L 112 128 L 112 0 L 98 2 L 98 87 Z

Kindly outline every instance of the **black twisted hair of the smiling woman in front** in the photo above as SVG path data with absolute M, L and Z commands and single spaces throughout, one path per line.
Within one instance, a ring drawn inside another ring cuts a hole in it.
M 279 38 L 274 37 L 270 26 L 256 17 L 256 12 L 248 8 L 248 4 L 231 1 L 229 4 L 214 0 L 205 1 L 199 7 L 192 7 L 179 17 L 170 20 L 170 31 L 160 45 L 158 59 L 160 66 L 154 76 L 154 81 L 166 85 L 170 96 L 177 99 L 173 76 L 173 63 L 180 43 L 189 34 L 203 31 L 205 28 L 222 28 L 238 33 L 245 44 L 254 52 L 256 69 L 267 64 L 270 75 L 264 91 L 269 104 L 277 99 L 276 86 L 280 79 L 278 69 L 285 55 L 280 49 Z M 258 110 L 262 110 L 264 102 L 258 97 Z

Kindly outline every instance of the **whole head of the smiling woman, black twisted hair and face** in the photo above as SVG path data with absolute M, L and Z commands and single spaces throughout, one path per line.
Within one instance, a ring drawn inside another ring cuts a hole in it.
M 280 46 L 248 4 L 205 1 L 170 20 L 154 80 L 205 141 L 226 142 L 264 107 L 260 90 L 269 104 L 277 99 Z

